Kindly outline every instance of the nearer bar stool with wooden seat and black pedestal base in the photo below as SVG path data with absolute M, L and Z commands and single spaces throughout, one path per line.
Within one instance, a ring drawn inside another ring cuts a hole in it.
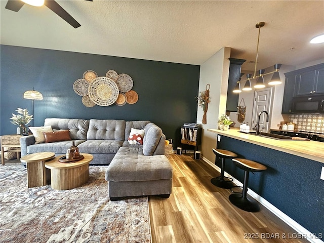
M 237 208 L 240 208 L 248 212 L 259 212 L 260 206 L 259 203 L 250 197 L 247 197 L 248 192 L 248 183 L 249 183 L 249 172 L 260 172 L 265 171 L 267 168 L 264 165 L 261 165 L 255 161 L 245 159 L 245 158 L 233 158 L 232 161 L 234 164 L 244 170 L 244 182 L 242 186 L 242 192 L 233 192 L 229 195 L 230 202 L 235 205 Z M 240 186 L 234 186 L 240 187 Z M 234 188 L 232 187 L 232 188 Z

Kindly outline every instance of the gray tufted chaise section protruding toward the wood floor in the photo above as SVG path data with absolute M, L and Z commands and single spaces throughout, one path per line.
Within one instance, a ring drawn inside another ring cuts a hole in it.
M 165 155 L 143 154 L 142 148 L 121 147 L 106 170 L 110 200 L 128 196 L 160 195 L 172 192 L 172 166 Z

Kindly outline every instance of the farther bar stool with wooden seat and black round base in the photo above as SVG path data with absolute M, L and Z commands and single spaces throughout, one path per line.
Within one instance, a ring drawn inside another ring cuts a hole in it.
M 211 179 L 211 182 L 215 186 L 229 189 L 229 188 L 231 188 L 233 186 L 232 185 L 233 179 L 224 176 L 224 172 L 225 172 L 225 158 L 235 158 L 235 157 L 237 157 L 237 154 L 236 153 L 233 153 L 231 151 L 228 151 L 228 150 L 215 149 L 215 148 L 213 148 L 213 152 L 216 155 L 215 163 L 216 163 L 217 156 L 219 156 L 219 157 L 222 158 L 222 165 L 221 165 L 221 176 L 212 178 Z

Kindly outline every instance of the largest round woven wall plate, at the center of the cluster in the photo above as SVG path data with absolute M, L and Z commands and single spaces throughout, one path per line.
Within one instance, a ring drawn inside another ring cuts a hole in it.
M 108 106 L 116 102 L 119 90 L 111 78 L 97 77 L 89 84 L 88 94 L 97 105 Z

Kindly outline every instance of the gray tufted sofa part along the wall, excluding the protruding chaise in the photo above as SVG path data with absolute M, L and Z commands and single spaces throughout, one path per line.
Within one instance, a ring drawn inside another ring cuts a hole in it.
M 72 141 L 78 146 L 80 153 L 93 155 L 90 165 L 109 165 L 120 147 L 141 147 L 145 155 L 165 153 L 166 136 L 148 120 L 46 118 L 44 127 L 47 126 L 51 126 L 53 131 L 69 130 L 71 140 L 35 144 L 33 135 L 23 136 L 20 139 L 21 156 L 48 151 L 63 155 L 71 147 Z M 144 145 L 129 144 L 128 137 L 132 128 L 145 130 Z

